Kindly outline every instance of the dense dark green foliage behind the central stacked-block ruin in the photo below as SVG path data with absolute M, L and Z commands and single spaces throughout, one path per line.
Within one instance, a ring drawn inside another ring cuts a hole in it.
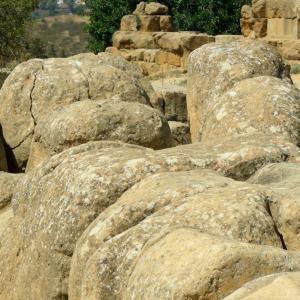
M 130 14 L 139 0 L 88 0 L 90 49 L 103 51 L 111 43 L 120 19 Z M 148 1 L 152 2 L 152 1 Z M 251 0 L 161 0 L 170 8 L 180 30 L 195 30 L 209 34 L 240 32 L 239 19 L 242 5 Z

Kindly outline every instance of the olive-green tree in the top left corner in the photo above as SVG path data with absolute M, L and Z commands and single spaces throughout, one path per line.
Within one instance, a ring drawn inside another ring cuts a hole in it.
M 0 65 L 22 55 L 26 24 L 36 6 L 35 0 L 0 0 Z

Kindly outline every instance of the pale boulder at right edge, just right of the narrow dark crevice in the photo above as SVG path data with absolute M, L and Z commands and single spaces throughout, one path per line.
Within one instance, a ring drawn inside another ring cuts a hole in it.
M 277 194 L 270 203 L 273 219 L 286 248 L 300 251 L 300 164 L 267 165 L 249 182 L 267 185 Z

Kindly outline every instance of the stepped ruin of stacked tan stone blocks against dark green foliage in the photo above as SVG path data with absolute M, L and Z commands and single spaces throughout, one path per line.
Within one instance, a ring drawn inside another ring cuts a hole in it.
M 141 2 L 132 15 L 122 18 L 113 47 L 107 51 L 136 63 L 145 75 L 186 70 L 189 54 L 215 39 L 197 32 L 177 32 L 167 13 L 165 5 Z

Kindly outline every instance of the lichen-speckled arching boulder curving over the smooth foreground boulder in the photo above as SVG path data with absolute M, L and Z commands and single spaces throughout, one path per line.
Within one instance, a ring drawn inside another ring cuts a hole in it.
M 282 247 L 267 211 L 268 197 L 259 187 L 211 171 L 160 173 L 144 179 L 99 215 L 77 242 L 70 299 L 123 299 L 144 245 L 173 226 Z

